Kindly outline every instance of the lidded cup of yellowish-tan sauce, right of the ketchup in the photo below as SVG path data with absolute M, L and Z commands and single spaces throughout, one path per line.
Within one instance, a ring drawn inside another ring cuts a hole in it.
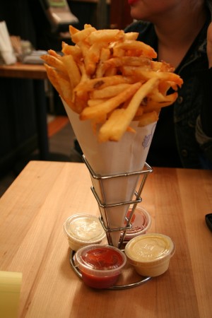
M 125 247 L 129 263 L 141 276 L 159 276 L 169 268 L 175 245 L 167 235 L 150 233 L 134 237 Z

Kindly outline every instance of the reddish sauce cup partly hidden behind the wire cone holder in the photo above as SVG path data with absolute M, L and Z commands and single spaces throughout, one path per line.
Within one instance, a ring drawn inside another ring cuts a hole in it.
M 131 210 L 132 210 L 132 206 L 130 206 L 129 211 L 126 214 L 127 218 L 129 218 Z M 126 230 L 124 241 L 129 241 L 138 235 L 145 234 L 150 227 L 151 227 L 150 214 L 144 208 L 136 206 L 134 215 L 131 219 L 131 229 Z

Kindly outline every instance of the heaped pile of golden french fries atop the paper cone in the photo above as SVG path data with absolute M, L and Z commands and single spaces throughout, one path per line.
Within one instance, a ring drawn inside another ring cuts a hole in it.
M 119 141 L 131 121 L 146 126 L 158 121 L 161 107 L 175 102 L 182 78 L 156 52 L 137 41 L 138 33 L 83 30 L 69 26 L 75 45 L 61 44 L 41 58 L 61 98 L 81 120 L 90 119 L 98 141 Z M 172 88 L 172 93 L 168 93 Z

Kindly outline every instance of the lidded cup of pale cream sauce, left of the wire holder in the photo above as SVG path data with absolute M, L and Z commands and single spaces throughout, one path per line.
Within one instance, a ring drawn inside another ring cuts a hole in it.
M 100 243 L 106 237 L 98 217 L 86 213 L 69 216 L 64 222 L 64 232 L 73 251 L 86 245 Z

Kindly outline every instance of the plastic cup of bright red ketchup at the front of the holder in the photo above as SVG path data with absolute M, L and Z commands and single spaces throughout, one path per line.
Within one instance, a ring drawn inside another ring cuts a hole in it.
M 110 245 L 90 245 L 78 249 L 74 261 L 83 282 L 92 288 L 110 288 L 126 264 L 124 252 Z

